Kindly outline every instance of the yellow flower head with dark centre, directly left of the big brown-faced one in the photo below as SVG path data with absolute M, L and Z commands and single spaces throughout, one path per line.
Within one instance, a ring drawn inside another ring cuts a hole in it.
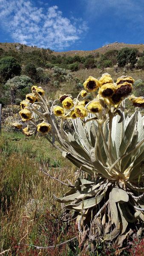
M 112 95 L 115 93 L 115 85 L 112 83 L 104 84 L 101 86 L 98 93 L 104 98 L 112 97 Z

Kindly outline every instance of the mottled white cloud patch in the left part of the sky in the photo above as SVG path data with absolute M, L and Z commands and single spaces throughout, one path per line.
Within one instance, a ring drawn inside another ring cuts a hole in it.
M 64 49 L 86 30 L 82 19 L 63 17 L 58 6 L 38 8 L 32 0 L 0 0 L 0 24 L 14 41 L 51 49 Z

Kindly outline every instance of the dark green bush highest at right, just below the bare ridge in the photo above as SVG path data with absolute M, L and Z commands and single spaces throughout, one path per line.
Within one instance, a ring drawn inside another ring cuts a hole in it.
M 134 64 L 136 63 L 137 53 L 138 50 L 135 48 L 122 48 L 117 55 L 119 67 L 124 67 L 129 62 L 132 64 L 132 67 L 134 67 Z

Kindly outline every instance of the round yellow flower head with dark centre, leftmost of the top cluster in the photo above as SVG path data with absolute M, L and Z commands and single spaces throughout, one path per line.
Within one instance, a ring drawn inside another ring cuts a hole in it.
M 88 90 L 89 92 L 96 91 L 98 87 L 100 87 L 100 82 L 93 76 L 89 76 L 89 78 L 84 82 L 84 89 Z

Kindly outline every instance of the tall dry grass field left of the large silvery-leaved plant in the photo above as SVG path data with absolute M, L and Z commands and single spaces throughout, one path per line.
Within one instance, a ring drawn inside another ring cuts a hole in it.
M 67 255 L 67 246 L 40 252 L 25 244 L 49 246 L 57 244 L 59 236 L 60 241 L 75 236 L 74 227 L 61 221 L 60 204 L 53 198 L 67 188 L 44 175 L 40 166 L 44 163 L 52 176 L 66 183 L 66 178 L 73 181 L 75 167 L 43 138 L 26 140 L 20 133 L 1 134 L 0 154 L 0 253 Z

